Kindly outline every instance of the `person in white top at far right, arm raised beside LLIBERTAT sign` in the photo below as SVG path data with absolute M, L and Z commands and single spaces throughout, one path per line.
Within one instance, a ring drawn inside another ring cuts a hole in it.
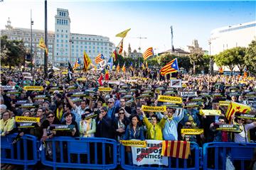
M 244 118 L 236 118 L 235 116 L 232 116 L 232 123 L 236 125 L 240 125 L 240 128 L 242 129 L 242 132 L 240 133 L 234 133 L 234 141 L 235 142 L 250 142 L 250 137 L 248 134 L 250 134 L 250 130 L 252 128 L 256 127 L 256 121 L 247 120 L 245 121 Z M 235 122 L 236 120 L 236 122 Z M 250 122 L 250 123 L 247 123 Z

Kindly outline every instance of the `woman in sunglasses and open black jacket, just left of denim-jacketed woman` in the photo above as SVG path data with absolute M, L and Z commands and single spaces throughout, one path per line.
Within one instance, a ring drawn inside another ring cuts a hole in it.
M 130 123 L 129 118 L 127 118 L 124 114 L 124 109 L 120 108 L 118 112 L 118 117 L 114 118 L 113 121 L 114 138 L 117 141 L 119 141 L 123 137 L 125 129 Z

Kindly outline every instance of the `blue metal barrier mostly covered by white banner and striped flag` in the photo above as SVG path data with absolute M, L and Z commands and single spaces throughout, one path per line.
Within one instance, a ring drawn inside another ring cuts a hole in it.
M 120 145 L 121 147 L 121 166 L 122 169 L 200 169 L 201 153 L 200 147 L 195 142 L 191 142 L 191 155 L 188 159 L 178 159 L 174 157 L 168 157 L 168 166 L 164 165 L 141 165 L 137 166 L 135 164 L 128 164 L 126 162 L 127 152 L 125 152 L 125 147 Z

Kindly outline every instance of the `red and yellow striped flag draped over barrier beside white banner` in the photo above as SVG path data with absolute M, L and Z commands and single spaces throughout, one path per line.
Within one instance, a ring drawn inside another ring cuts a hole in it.
M 190 142 L 164 140 L 162 143 L 161 156 L 188 159 L 191 154 Z

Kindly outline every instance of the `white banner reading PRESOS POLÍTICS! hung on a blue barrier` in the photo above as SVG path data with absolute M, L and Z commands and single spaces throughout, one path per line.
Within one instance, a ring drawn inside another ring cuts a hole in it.
M 132 147 L 132 162 L 136 165 L 158 164 L 168 166 L 168 157 L 161 156 L 162 141 L 146 140 L 146 147 Z

